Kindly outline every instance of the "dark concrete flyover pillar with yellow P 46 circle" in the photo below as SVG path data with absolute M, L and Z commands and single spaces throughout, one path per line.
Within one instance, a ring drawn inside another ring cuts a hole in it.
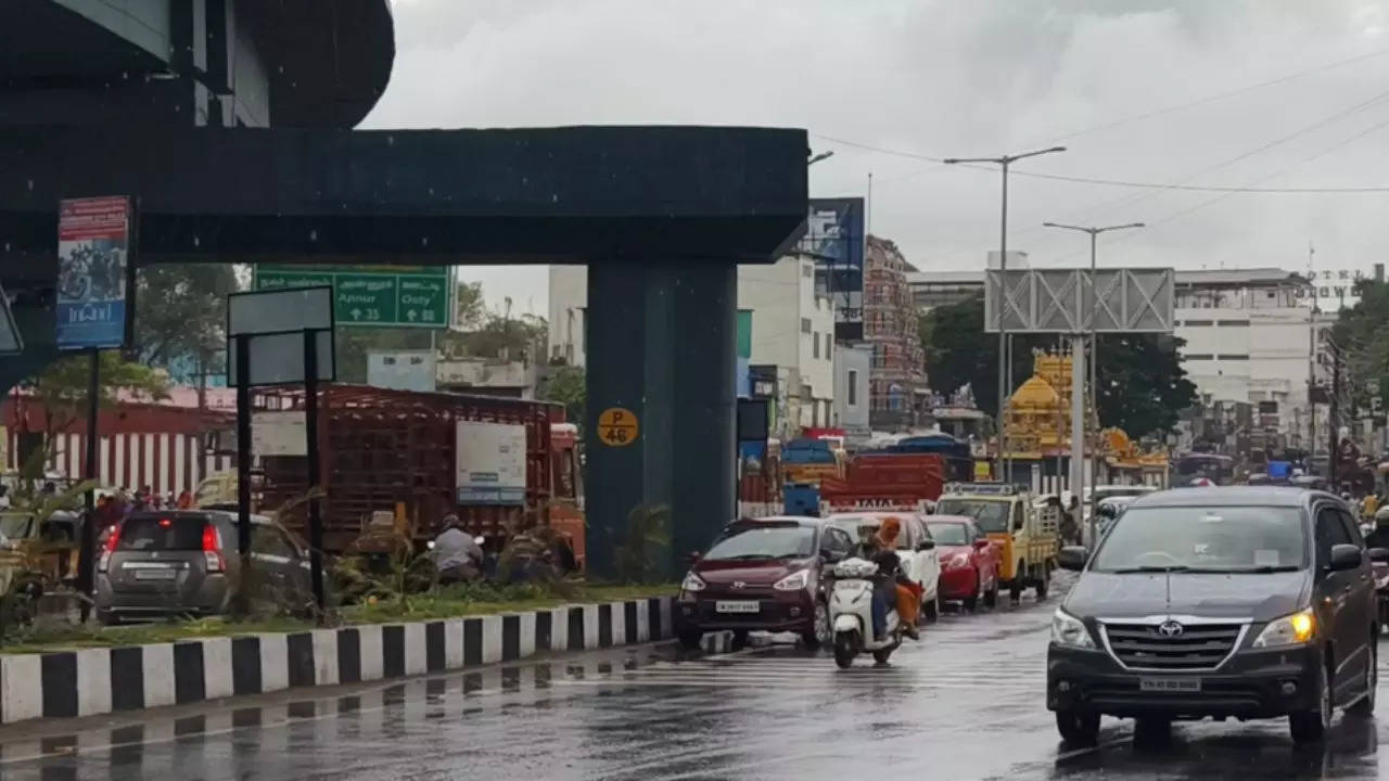
M 704 548 L 733 514 L 733 261 L 590 264 L 585 318 L 588 560 L 617 575 L 628 514 L 669 509 L 667 575 Z M 636 417 L 631 443 L 606 436 L 604 410 Z

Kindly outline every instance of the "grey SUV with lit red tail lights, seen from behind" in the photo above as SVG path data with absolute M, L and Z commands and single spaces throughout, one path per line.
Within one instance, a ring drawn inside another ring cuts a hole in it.
M 133 513 L 111 531 L 97 560 L 97 617 L 115 624 L 225 613 L 240 567 L 233 513 Z M 264 516 L 251 516 L 251 568 L 267 589 L 307 603 L 308 554 Z

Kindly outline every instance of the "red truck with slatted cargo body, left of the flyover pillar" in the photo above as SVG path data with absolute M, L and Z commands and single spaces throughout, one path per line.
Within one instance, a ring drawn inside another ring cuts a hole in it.
M 304 392 L 263 390 L 254 404 L 261 507 L 274 510 L 308 489 Z M 318 442 L 329 552 L 382 527 L 422 543 L 457 514 L 485 536 L 551 524 L 583 559 L 578 435 L 560 404 L 335 384 L 318 392 Z M 281 523 L 307 539 L 306 516 L 299 504 Z

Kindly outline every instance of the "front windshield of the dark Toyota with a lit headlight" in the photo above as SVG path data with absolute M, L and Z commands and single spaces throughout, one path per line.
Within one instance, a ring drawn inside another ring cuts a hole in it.
M 1307 566 L 1297 507 L 1131 507 L 1092 570 L 1268 571 Z

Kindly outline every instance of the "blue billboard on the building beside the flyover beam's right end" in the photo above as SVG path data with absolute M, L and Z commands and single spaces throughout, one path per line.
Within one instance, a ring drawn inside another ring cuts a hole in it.
M 815 257 L 842 342 L 864 338 L 864 199 L 810 199 L 800 252 Z

